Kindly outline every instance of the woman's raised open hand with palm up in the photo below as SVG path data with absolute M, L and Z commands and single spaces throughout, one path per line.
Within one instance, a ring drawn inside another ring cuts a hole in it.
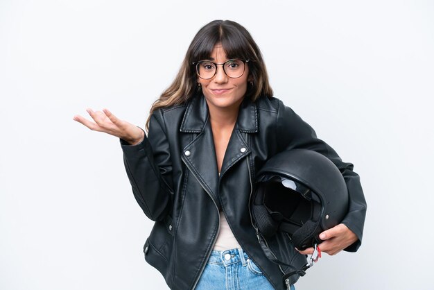
M 95 122 L 89 121 L 80 115 L 74 116 L 73 120 L 82 123 L 90 130 L 119 137 L 132 145 L 139 144 L 145 137 L 144 130 L 134 126 L 132 123 L 118 119 L 107 109 L 104 109 L 103 112 L 94 112 L 92 109 L 87 109 L 86 111 Z

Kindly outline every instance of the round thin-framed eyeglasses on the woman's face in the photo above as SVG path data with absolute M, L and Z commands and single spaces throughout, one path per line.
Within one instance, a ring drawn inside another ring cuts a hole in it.
M 229 78 L 239 78 L 243 76 L 245 70 L 245 63 L 249 60 L 227 60 L 223 63 L 211 62 L 209 60 L 200 60 L 193 62 L 192 65 L 196 65 L 196 73 L 199 78 L 209 80 L 213 78 L 217 73 L 217 66 L 221 65 L 226 76 Z

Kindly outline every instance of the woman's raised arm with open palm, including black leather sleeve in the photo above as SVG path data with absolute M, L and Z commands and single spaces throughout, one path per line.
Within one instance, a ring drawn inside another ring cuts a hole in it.
M 164 219 L 171 204 L 172 167 L 166 134 L 157 117 L 151 117 L 146 137 L 144 130 L 118 119 L 109 110 L 87 112 L 94 122 L 79 115 L 73 119 L 91 130 L 121 139 L 125 169 L 137 203 L 153 221 Z

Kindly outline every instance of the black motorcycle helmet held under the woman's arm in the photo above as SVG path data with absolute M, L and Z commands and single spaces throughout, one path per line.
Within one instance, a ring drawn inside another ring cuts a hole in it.
M 304 250 L 320 244 L 319 234 L 347 214 L 347 185 L 327 157 L 293 149 L 271 157 L 261 168 L 251 206 L 263 237 L 287 232 L 294 246 Z

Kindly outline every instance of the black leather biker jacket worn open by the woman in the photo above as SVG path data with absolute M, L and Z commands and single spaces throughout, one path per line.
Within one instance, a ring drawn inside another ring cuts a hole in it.
M 353 165 L 344 163 L 314 130 L 279 99 L 245 99 L 218 176 L 205 98 L 156 110 L 148 137 L 128 146 L 121 140 L 134 197 L 155 221 L 144 246 L 146 261 L 164 275 L 171 289 L 194 289 L 214 247 L 223 210 L 238 243 L 275 289 L 286 289 L 283 273 L 259 246 L 250 214 L 254 176 L 269 157 L 291 148 L 318 151 L 336 164 L 349 189 L 349 212 L 342 223 L 361 244 L 366 203 Z M 300 268 L 306 257 L 288 237 L 280 237 L 286 261 Z

